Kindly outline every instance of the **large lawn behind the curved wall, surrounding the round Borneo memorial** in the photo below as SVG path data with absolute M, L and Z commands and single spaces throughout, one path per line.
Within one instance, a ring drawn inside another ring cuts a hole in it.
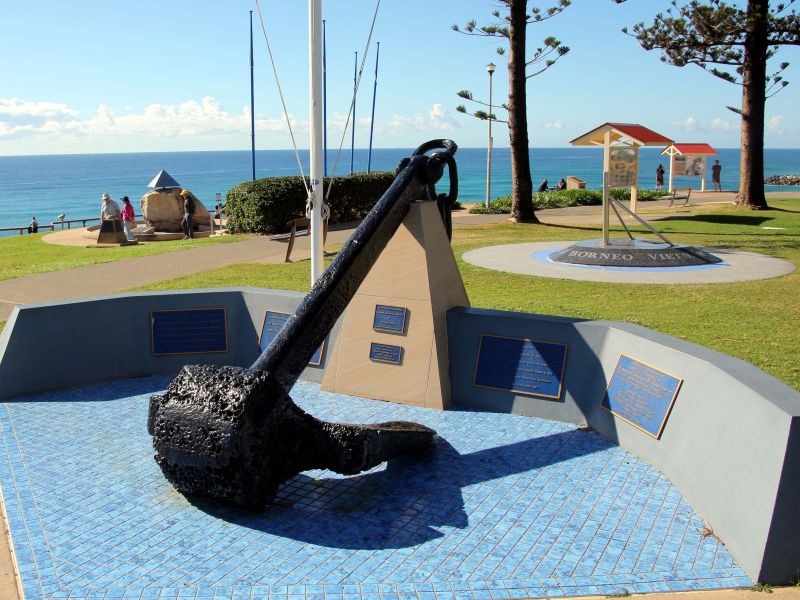
M 760 252 L 800 268 L 800 201 L 770 205 L 761 212 L 731 205 L 689 207 L 657 227 L 674 241 Z M 637 323 L 742 358 L 800 389 L 797 271 L 743 283 L 631 285 L 513 275 L 461 259 L 481 246 L 596 237 L 599 230 L 593 227 L 502 223 L 456 229 L 453 250 L 473 306 Z M 137 290 L 242 285 L 303 291 L 308 270 L 307 261 L 234 265 Z

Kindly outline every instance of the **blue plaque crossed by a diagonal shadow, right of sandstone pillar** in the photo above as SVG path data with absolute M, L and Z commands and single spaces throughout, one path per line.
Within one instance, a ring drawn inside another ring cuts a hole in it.
M 483 335 L 473 383 L 558 400 L 566 362 L 566 344 Z

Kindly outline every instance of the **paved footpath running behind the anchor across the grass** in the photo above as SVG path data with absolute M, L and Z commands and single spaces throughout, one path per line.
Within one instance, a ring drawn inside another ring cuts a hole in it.
M 800 192 L 770 192 L 767 196 L 800 199 Z M 734 192 L 693 192 L 691 200 L 693 205 L 697 205 L 730 203 L 734 199 Z M 640 215 L 649 220 L 657 220 L 686 210 L 683 207 L 673 207 L 672 211 L 663 212 L 668 204 L 667 200 L 641 203 Z M 602 217 L 600 206 L 556 208 L 537 211 L 536 214 L 543 223 L 552 225 L 597 225 Z M 454 227 L 504 223 L 507 220 L 507 215 L 471 215 L 465 210 L 453 213 Z M 44 239 L 50 243 L 61 241 L 68 245 L 76 243 L 83 245 L 84 240 L 80 238 L 79 233 L 76 233 L 79 231 L 82 230 L 57 232 L 45 236 Z M 328 234 L 328 244 L 342 244 L 351 233 L 352 229 L 332 230 Z M 297 238 L 292 253 L 293 260 L 307 259 L 309 252 L 309 238 Z M 142 256 L 125 261 L 0 281 L 0 321 L 8 319 L 15 304 L 35 304 L 115 294 L 132 287 L 193 275 L 232 264 L 281 263 L 285 254 L 285 244 L 259 237 L 232 244 Z

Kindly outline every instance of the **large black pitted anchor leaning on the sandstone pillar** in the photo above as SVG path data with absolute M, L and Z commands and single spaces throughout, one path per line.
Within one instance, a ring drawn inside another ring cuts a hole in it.
M 436 148 L 445 152 L 425 155 Z M 401 163 L 391 187 L 250 368 L 187 365 L 163 395 L 151 397 L 155 459 L 181 493 L 258 510 L 301 471 L 355 474 L 433 447 L 436 432 L 423 425 L 327 423 L 301 410 L 289 391 L 411 203 L 433 195 L 445 165 L 455 199 L 456 149 L 450 140 L 433 140 Z

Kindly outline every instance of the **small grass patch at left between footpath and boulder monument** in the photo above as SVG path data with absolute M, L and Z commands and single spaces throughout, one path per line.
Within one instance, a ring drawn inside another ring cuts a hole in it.
M 84 265 L 187 250 L 211 244 L 238 242 L 248 236 L 223 235 L 193 240 L 150 242 L 136 246 L 83 248 L 56 246 L 42 241 L 44 233 L 18 235 L 0 239 L 0 281 L 34 273 L 61 271 Z M 89 243 L 89 240 L 87 240 Z

